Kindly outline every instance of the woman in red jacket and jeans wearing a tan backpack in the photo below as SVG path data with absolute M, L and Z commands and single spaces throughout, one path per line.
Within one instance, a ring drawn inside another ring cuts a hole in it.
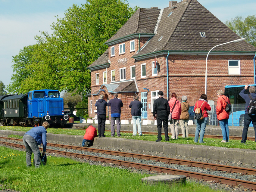
M 198 142 L 198 136 L 200 132 L 200 140 L 199 143 L 204 143 L 204 132 L 207 125 L 208 120 L 208 111 L 211 110 L 210 105 L 208 104 L 207 95 L 201 94 L 200 99 L 195 103 L 194 111 L 197 107 L 201 107 L 201 111 L 203 114 L 203 119 L 196 120 L 196 129 L 195 129 L 195 143 Z

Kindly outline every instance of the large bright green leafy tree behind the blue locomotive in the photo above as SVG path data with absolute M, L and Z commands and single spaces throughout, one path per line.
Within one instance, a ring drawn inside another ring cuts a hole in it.
M 27 92 L 39 87 L 52 88 L 76 91 L 84 96 L 91 86 L 90 71 L 86 67 L 104 53 L 108 48 L 104 42 L 136 9 L 129 8 L 123 0 L 87 0 L 81 6 L 73 5 L 64 13 L 64 18 L 57 17 L 57 22 L 52 23 L 52 35 L 42 32 L 36 36 L 37 46 L 31 62 L 26 65 L 30 74 L 26 76 L 15 66 L 18 76 L 12 77 L 10 89 L 18 86 L 17 92 Z M 26 52 L 22 50 L 19 55 L 22 54 Z

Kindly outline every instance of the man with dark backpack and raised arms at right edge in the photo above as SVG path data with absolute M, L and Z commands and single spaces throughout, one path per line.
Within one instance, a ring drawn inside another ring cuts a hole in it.
M 249 115 L 247 108 L 249 106 L 249 103 L 251 101 L 251 98 L 255 100 L 256 98 L 256 88 L 254 86 L 249 87 L 250 94 L 245 94 L 245 90 L 248 88 L 249 85 L 245 85 L 245 88 L 239 93 L 239 95 L 245 100 L 245 116 L 244 116 L 244 129 L 242 133 L 242 140 L 241 143 L 245 143 L 247 140 L 247 132 L 250 123 L 252 122 L 253 128 L 254 128 L 254 134 L 255 134 L 255 141 L 256 141 L 256 115 Z M 250 98 L 250 96 L 251 98 Z

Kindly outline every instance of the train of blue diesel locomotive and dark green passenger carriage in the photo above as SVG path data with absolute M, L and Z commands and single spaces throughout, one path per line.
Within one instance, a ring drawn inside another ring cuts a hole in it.
M 51 127 L 63 127 L 68 116 L 64 115 L 64 102 L 58 90 L 34 90 L 26 94 L 0 96 L 2 125 L 38 126 L 47 121 Z

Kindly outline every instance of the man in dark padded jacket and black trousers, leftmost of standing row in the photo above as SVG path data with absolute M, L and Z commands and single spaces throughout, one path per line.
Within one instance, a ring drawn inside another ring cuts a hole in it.
M 106 125 L 106 106 L 108 106 L 107 101 L 103 99 L 103 95 L 100 95 L 99 100 L 96 101 L 95 107 L 97 107 L 97 118 L 98 118 L 98 135 L 99 137 L 106 137 L 105 125 Z

